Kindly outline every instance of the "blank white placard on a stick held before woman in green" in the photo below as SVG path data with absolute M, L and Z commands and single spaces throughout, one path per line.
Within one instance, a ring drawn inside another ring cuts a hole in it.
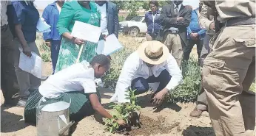
M 92 26 L 81 21 L 75 21 L 71 35 L 92 43 L 98 43 L 101 36 L 101 27 Z

